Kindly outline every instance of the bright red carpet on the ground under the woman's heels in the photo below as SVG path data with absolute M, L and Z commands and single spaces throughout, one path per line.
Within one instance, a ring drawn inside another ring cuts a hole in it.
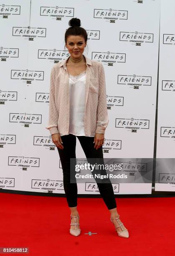
M 117 236 L 101 198 L 78 198 L 78 237 L 69 234 L 70 211 L 64 197 L 0 193 L 0 202 L 0 247 L 28 247 L 33 256 L 175 254 L 174 197 L 116 198 L 129 238 Z M 84 234 L 89 231 L 97 234 Z

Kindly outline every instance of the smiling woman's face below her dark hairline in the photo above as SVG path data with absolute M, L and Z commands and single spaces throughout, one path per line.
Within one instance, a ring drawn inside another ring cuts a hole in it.
M 66 48 L 71 54 L 72 59 L 80 59 L 84 48 L 86 47 L 86 42 L 83 36 L 68 36 L 66 42 Z

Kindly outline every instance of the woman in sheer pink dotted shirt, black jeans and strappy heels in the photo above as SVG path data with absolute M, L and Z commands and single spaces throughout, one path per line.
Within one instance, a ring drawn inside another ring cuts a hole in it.
M 65 45 L 70 56 L 55 64 L 51 70 L 49 122 L 46 128 L 58 149 L 63 169 L 63 187 L 71 210 L 70 233 L 79 236 L 77 184 L 70 182 L 70 158 L 76 161 L 77 137 L 88 160 L 103 159 L 102 144 L 109 119 L 103 65 L 83 54 L 87 33 L 80 27 L 80 20 L 72 18 L 69 26 L 65 33 Z M 128 238 L 129 233 L 119 220 L 111 182 L 97 185 L 111 213 L 115 230 L 119 236 Z

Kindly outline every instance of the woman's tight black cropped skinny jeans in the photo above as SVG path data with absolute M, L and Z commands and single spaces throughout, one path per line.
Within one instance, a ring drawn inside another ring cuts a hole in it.
M 63 187 L 66 194 L 66 199 L 69 207 L 77 206 L 77 184 L 70 183 L 70 158 L 76 159 L 76 137 L 79 139 L 81 147 L 84 150 L 86 159 L 88 158 L 101 158 L 103 159 L 102 146 L 98 149 L 94 148 L 94 137 L 88 136 L 75 136 L 73 134 L 63 135 L 61 139 L 63 141 L 63 149 L 58 149 L 60 161 L 63 169 Z M 75 160 L 76 161 L 76 160 Z M 92 172 L 93 175 L 94 172 Z M 106 173 L 106 171 L 105 171 Z M 104 203 L 107 205 L 108 210 L 117 207 L 114 191 L 110 180 L 109 183 L 97 183 L 98 189 Z

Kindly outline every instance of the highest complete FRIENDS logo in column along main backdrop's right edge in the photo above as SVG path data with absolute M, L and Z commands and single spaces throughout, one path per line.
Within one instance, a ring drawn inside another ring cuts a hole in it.
M 143 43 L 153 43 L 152 33 L 141 33 L 141 32 L 120 32 L 120 41 L 126 41 L 135 43 L 136 46 L 140 46 Z

